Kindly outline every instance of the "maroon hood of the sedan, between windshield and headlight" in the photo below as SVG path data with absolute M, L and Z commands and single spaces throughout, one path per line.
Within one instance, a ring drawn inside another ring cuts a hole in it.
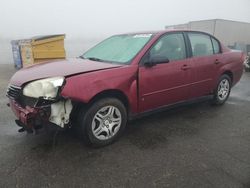
M 33 65 L 17 71 L 11 78 L 10 84 L 21 86 L 26 82 L 55 76 L 70 76 L 80 73 L 120 67 L 122 65 L 90 61 L 87 59 L 70 59 L 50 61 Z

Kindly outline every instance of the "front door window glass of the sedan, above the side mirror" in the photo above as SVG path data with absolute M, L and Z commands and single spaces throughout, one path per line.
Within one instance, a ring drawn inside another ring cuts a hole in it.
M 150 59 L 181 60 L 186 58 L 184 37 L 181 33 L 167 34 L 150 50 Z

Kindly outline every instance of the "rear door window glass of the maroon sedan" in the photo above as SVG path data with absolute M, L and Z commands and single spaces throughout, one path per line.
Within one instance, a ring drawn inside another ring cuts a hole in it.
M 213 45 L 208 35 L 201 33 L 188 33 L 194 57 L 212 55 Z

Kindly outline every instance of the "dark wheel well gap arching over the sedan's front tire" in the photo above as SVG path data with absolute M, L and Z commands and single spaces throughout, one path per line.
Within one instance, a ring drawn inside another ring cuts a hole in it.
M 106 97 L 107 98 L 113 97 L 113 98 L 119 99 L 124 104 L 125 108 L 127 109 L 127 112 L 129 112 L 130 105 L 129 105 L 128 98 L 122 91 L 115 90 L 115 89 L 105 90 L 105 91 L 102 91 L 101 93 L 98 93 L 89 101 L 88 104 L 91 105 L 95 101 L 102 99 L 102 98 L 106 98 Z

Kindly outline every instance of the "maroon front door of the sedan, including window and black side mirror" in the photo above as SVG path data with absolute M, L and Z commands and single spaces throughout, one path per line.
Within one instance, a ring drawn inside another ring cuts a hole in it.
M 184 36 L 162 36 L 142 58 L 139 67 L 139 110 L 149 111 L 188 97 L 192 62 L 187 59 Z

